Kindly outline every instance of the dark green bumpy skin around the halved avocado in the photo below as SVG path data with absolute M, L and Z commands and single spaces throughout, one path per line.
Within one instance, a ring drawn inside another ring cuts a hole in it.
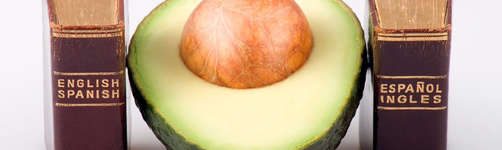
M 163 2 L 161 5 L 165 5 L 169 2 L 170 0 L 166 0 Z M 338 2 L 344 9 L 347 10 L 348 6 L 341 0 L 335 0 Z M 157 7 L 159 8 L 159 7 Z M 156 9 L 157 9 L 156 8 Z M 348 8 L 350 10 L 350 8 Z M 155 9 L 153 10 L 155 11 Z M 152 12 L 153 12 L 152 11 Z M 349 15 L 352 15 L 354 18 L 354 21 L 356 23 L 359 23 L 357 17 L 353 12 L 347 11 Z M 151 15 L 151 14 L 150 14 Z M 147 16 L 148 17 L 148 16 Z M 145 22 L 145 20 L 143 20 Z M 142 23 L 143 23 L 142 22 Z M 360 23 L 359 23 L 360 24 Z M 141 26 L 141 24 L 140 24 Z M 140 28 L 137 29 L 137 31 L 140 30 Z M 362 28 L 359 29 L 360 32 L 362 32 Z M 351 95 L 347 100 L 347 103 L 344 105 L 344 109 L 342 114 L 338 117 L 338 119 L 335 121 L 333 126 L 329 128 L 329 130 L 324 134 L 322 137 L 317 139 L 316 141 L 312 142 L 311 144 L 301 148 L 297 147 L 295 149 L 302 149 L 302 150 L 321 150 L 321 149 L 335 149 L 338 147 L 340 144 L 341 139 L 345 136 L 347 133 L 347 129 L 349 127 L 349 124 L 352 120 L 352 118 L 355 115 L 355 111 L 359 105 L 359 100 L 362 98 L 362 90 L 364 89 L 364 81 L 365 81 L 365 75 L 366 75 L 366 69 L 368 67 L 367 63 L 367 51 L 366 51 L 366 46 L 364 42 L 364 37 L 363 34 L 361 33 L 359 35 L 361 42 L 361 66 L 360 66 L 360 71 L 355 79 L 354 83 L 354 88 L 351 90 Z M 131 51 L 134 51 L 135 46 L 134 46 L 134 39 L 135 37 L 133 36 L 132 42 L 129 46 Z M 132 62 L 132 58 L 130 54 L 128 54 L 127 58 L 127 68 L 128 68 L 128 74 L 129 74 L 129 80 L 131 82 L 131 89 L 133 96 L 135 98 L 135 103 L 136 106 L 139 108 L 143 119 L 147 122 L 148 126 L 154 134 L 157 136 L 159 140 L 166 146 L 167 149 L 172 149 L 172 150 L 178 150 L 178 149 L 190 149 L 190 150 L 203 150 L 204 148 L 199 147 L 198 145 L 191 143 L 189 141 L 186 141 L 182 136 L 179 134 L 176 134 L 176 132 L 171 129 L 171 126 L 167 124 L 167 122 L 162 119 L 160 114 L 156 113 L 152 105 L 146 100 L 148 97 L 147 95 L 144 95 L 141 90 L 139 90 L 134 78 L 139 78 L 136 75 L 133 74 L 135 72 L 135 66 L 134 62 Z

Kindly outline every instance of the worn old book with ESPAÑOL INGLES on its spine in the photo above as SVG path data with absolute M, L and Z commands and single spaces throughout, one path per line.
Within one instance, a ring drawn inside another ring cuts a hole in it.
M 361 148 L 446 149 L 451 0 L 368 0 L 367 42 Z

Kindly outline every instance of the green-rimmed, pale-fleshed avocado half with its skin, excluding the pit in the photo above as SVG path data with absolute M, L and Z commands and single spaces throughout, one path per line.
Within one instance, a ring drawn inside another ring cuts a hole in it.
M 184 24 L 201 0 L 167 0 L 138 26 L 128 69 L 143 118 L 168 149 L 334 149 L 361 98 L 363 31 L 341 0 L 296 0 L 314 46 L 277 83 L 235 89 L 206 82 L 180 58 Z

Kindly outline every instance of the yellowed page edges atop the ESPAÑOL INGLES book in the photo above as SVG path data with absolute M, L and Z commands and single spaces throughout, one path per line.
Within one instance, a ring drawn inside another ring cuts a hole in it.
M 451 30 L 451 0 L 368 0 L 367 4 L 375 32 Z

